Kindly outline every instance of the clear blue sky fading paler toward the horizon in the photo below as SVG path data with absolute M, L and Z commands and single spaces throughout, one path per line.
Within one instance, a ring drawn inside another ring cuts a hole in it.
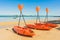
M 0 15 L 19 15 L 18 4 L 23 4 L 24 15 L 36 15 L 36 6 L 40 6 L 40 15 L 46 15 L 46 8 L 49 15 L 60 16 L 60 0 L 0 0 Z

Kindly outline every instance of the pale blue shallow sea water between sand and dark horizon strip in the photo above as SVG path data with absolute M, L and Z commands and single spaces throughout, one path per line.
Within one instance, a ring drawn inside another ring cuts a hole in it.
M 18 21 L 18 18 L 19 17 L 8 17 L 8 16 L 0 16 L 0 22 L 6 22 L 6 21 Z M 36 16 L 31 16 L 31 17 L 28 17 L 28 16 L 24 16 L 25 20 L 32 20 L 32 19 L 36 19 Z M 44 16 L 41 16 L 40 19 L 44 19 L 45 17 Z M 49 16 L 48 17 L 49 20 L 57 20 L 59 19 L 60 17 L 51 17 Z M 22 17 L 21 17 L 22 19 Z

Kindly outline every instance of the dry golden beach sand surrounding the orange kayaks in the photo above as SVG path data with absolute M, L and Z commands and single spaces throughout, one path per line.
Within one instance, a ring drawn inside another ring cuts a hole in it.
M 35 21 L 26 21 L 27 23 L 34 23 Z M 33 37 L 25 37 L 21 35 L 17 35 L 12 31 L 14 25 L 17 25 L 16 22 L 0 22 L 0 40 L 60 40 L 60 30 L 56 28 L 51 29 L 50 31 L 43 30 L 33 30 L 35 36 Z M 24 25 L 21 22 L 21 25 Z M 58 24 L 58 27 L 60 24 Z M 8 29 L 8 30 L 7 30 Z

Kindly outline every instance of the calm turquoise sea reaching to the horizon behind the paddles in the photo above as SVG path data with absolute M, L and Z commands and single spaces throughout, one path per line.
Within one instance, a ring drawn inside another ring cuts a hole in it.
M 35 15 L 23 15 L 22 16 L 16 16 L 16 15 L 1 15 L 0 16 L 0 22 L 8 22 L 8 21 L 18 21 L 19 17 L 21 17 L 21 20 L 23 20 L 23 17 L 25 20 L 34 20 L 37 18 Z M 39 16 L 40 19 L 45 19 L 46 16 Z M 48 16 L 48 20 L 60 20 L 60 16 Z

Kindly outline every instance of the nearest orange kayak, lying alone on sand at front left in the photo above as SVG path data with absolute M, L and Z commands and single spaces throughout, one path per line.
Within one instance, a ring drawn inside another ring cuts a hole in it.
M 29 28 L 23 28 L 20 26 L 14 26 L 13 31 L 15 31 L 19 35 L 28 36 L 28 37 L 32 37 L 34 35 L 34 32 Z

